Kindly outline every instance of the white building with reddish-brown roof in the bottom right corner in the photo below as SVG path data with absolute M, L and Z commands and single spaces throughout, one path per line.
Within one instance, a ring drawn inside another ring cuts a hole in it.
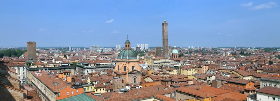
M 247 101 L 279 101 L 280 88 L 265 86 L 256 91 L 256 94 L 249 95 Z

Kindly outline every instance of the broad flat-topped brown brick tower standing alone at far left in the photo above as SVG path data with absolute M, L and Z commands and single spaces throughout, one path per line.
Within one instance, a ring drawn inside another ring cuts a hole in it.
M 33 60 L 36 60 L 36 42 L 27 42 L 27 59 L 33 58 Z

